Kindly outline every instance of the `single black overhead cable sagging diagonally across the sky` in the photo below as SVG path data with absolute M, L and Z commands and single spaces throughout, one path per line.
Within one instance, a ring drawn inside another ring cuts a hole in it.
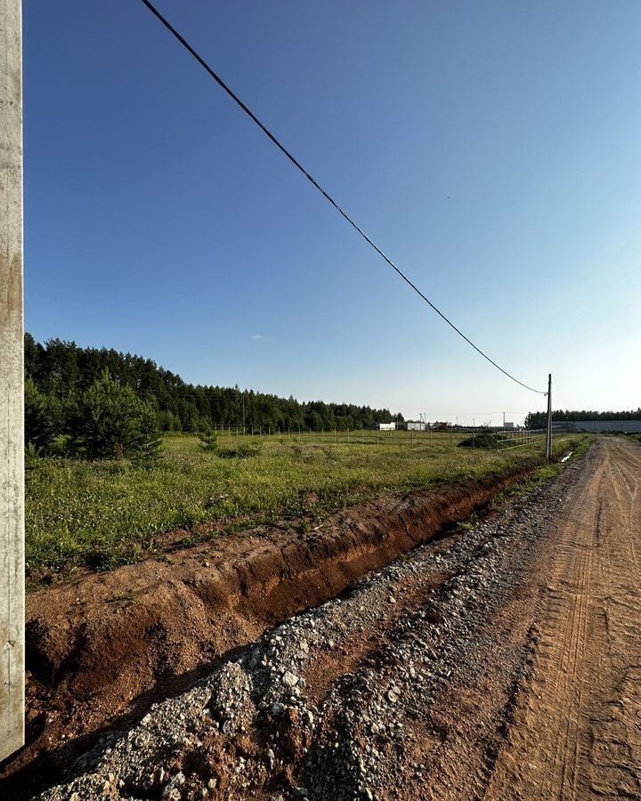
M 305 178 L 309 182 L 311 182 L 312 185 L 317 190 L 319 190 L 321 192 L 321 195 L 323 196 L 323 198 L 325 198 L 332 206 L 334 206 L 334 208 L 337 210 L 338 214 L 341 214 L 343 217 L 345 217 L 345 220 L 353 227 L 353 229 L 355 231 L 358 231 L 359 234 L 361 234 L 361 237 L 363 239 L 365 239 L 365 241 L 371 247 L 373 247 L 374 250 L 376 250 L 377 254 L 380 255 L 383 259 L 385 259 L 385 262 L 387 264 L 389 264 L 389 266 L 399 274 L 399 276 L 405 281 L 405 283 L 408 284 L 417 293 L 417 295 L 420 298 L 422 298 L 427 303 L 427 305 L 430 306 L 434 310 L 434 312 L 436 312 L 439 315 L 439 317 L 441 317 L 442 320 L 444 320 L 450 326 L 450 328 L 453 328 L 457 332 L 458 336 L 461 336 L 463 339 L 465 339 L 467 344 L 471 345 L 475 349 L 475 351 L 477 353 L 480 353 L 483 356 L 483 359 L 488 360 L 491 365 L 493 365 L 495 368 L 500 370 L 500 372 L 503 373 L 504 376 L 507 376 L 508 378 L 511 378 L 512 381 L 515 381 L 516 384 L 520 384 L 525 389 L 530 390 L 531 392 L 537 392 L 540 395 L 547 394 L 546 392 L 541 392 L 541 390 L 537 390 L 537 389 L 534 389 L 534 387 L 528 386 L 528 384 L 523 384 L 523 381 L 519 381 L 518 378 L 515 378 L 515 376 L 512 376 L 510 373 L 507 372 L 507 370 L 505 370 L 502 367 L 500 367 L 500 365 L 497 364 L 496 361 L 491 359 L 487 355 L 487 353 L 483 352 L 481 350 L 481 348 L 477 347 L 477 345 L 475 345 L 472 342 L 471 339 L 469 339 L 467 336 L 465 336 L 465 334 L 460 330 L 460 328 L 457 328 L 454 325 L 454 323 L 451 320 L 449 320 L 441 312 L 440 309 L 437 309 L 436 306 L 434 305 L 434 303 L 432 303 L 432 301 L 429 300 L 429 298 L 426 297 L 426 295 L 424 295 L 420 291 L 420 289 L 416 286 L 416 284 L 414 284 L 405 275 L 405 273 L 402 272 L 402 270 L 400 270 L 396 266 L 396 264 L 394 264 L 392 259 L 390 259 L 389 256 L 385 255 L 385 253 L 380 249 L 380 247 L 377 246 L 377 244 L 375 242 L 372 241 L 372 239 L 369 239 L 369 236 L 365 233 L 365 231 L 363 231 L 356 223 L 354 223 L 352 217 L 350 217 L 349 214 L 347 214 L 340 206 L 338 206 L 337 201 L 334 198 L 332 198 L 331 195 L 329 195 L 329 193 L 321 187 L 321 184 L 316 181 L 316 179 L 312 176 L 312 174 L 308 173 L 307 170 L 304 168 L 304 166 L 296 158 L 294 158 L 294 156 L 292 156 L 292 154 L 289 152 L 289 150 L 287 150 L 287 148 L 284 145 L 280 144 L 278 139 L 276 139 L 276 137 L 274 136 L 274 134 L 272 134 L 272 132 L 269 130 L 269 128 L 267 128 L 266 125 L 264 125 L 260 121 L 260 119 L 258 119 L 258 117 L 256 117 L 256 114 L 254 114 L 254 112 L 251 109 L 249 109 L 249 107 L 243 101 L 240 100 L 239 96 L 236 93 L 234 93 L 227 84 L 225 84 L 223 79 L 221 77 L 219 77 L 218 75 L 216 75 L 214 70 L 211 69 L 211 67 L 207 64 L 207 61 L 205 61 L 201 56 L 199 56 L 198 53 L 196 53 L 196 51 L 193 49 L 191 44 L 189 44 L 189 42 L 187 42 L 187 40 L 183 36 L 181 36 L 181 34 L 179 34 L 178 31 L 171 25 L 171 23 L 168 22 L 160 12 L 158 12 L 158 9 L 156 9 L 149 2 L 149 0 L 142 0 L 142 3 L 147 6 L 147 8 L 150 10 L 150 12 L 152 14 L 154 14 L 154 16 L 156 16 L 158 18 L 158 20 L 160 20 L 160 22 L 162 22 L 162 24 L 165 26 L 165 28 L 175 36 L 175 38 L 183 45 L 183 47 L 189 53 L 191 53 L 191 55 L 194 57 L 194 59 L 196 59 L 196 61 L 199 62 L 200 66 L 203 69 L 207 70 L 209 75 L 214 78 L 215 82 L 224 90 L 224 92 L 226 92 L 231 97 L 231 100 L 234 101 L 235 103 L 237 103 L 239 105 L 239 107 L 247 114 L 247 117 L 250 117 L 256 123 L 256 125 L 258 125 L 258 127 L 261 129 L 261 131 L 263 131 L 265 136 L 267 136 L 267 138 L 270 139 L 273 142 L 273 144 L 276 145 L 276 147 L 289 159 L 289 161 L 291 161 L 291 163 L 294 166 L 296 166 L 296 168 L 298 170 L 300 170 L 301 173 L 304 174 Z

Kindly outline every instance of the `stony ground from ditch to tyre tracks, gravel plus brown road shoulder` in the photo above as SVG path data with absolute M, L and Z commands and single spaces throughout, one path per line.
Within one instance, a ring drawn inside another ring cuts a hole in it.
M 369 573 L 109 734 L 47 801 L 483 797 L 583 468 Z

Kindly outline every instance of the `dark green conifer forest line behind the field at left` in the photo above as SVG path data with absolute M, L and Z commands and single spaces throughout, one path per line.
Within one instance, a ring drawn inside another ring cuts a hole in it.
M 28 402 L 37 401 L 38 409 L 48 418 L 47 425 L 54 433 L 73 435 L 78 425 L 86 425 L 82 417 L 95 414 L 93 394 L 116 392 L 103 380 L 126 388 L 129 405 L 133 396 L 142 401 L 139 409 L 149 426 L 150 410 L 163 432 L 206 431 L 213 426 L 260 426 L 281 431 L 300 428 L 307 431 L 337 428 L 372 427 L 376 423 L 402 421 L 389 409 L 371 409 L 351 403 L 324 401 L 299 402 L 293 397 L 241 390 L 238 386 L 187 384 L 181 376 L 158 367 L 150 359 L 108 348 L 82 348 L 73 342 L 50 339 L 38 343 L 25 335 L 25 379 Z M 93 406 L 87 406 L 87 402 Z M 104 402 L 104 401 L 103 401 Z M 119 401 L 118 401 L 119 402 Z M 132 407 L 133 408 L 133 407 Z M 42 415 L 41 415 L 42 416 Z

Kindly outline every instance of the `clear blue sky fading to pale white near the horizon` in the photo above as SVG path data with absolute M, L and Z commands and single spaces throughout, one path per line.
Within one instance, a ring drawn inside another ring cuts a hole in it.
M 158 0 L 555 407 L 641 405 L 641 4 Z M 137 0 L 24 3 L 26 324 L 206 384 L 519 419 Z

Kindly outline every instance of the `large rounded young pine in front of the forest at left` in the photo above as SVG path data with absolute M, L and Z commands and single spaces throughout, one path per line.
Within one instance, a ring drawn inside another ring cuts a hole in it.
M 80 395 L 70 429 L 74 451 L 92 459 L 149 460 L 160 444 L 155 410 L 106 370 Z

